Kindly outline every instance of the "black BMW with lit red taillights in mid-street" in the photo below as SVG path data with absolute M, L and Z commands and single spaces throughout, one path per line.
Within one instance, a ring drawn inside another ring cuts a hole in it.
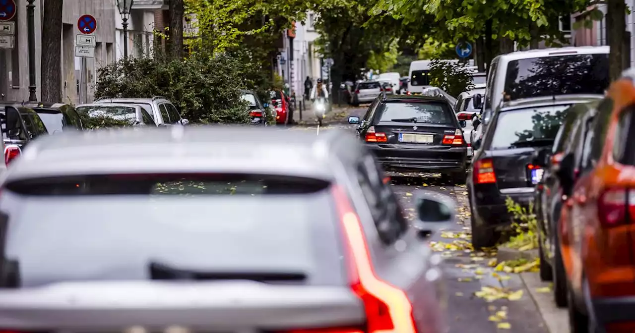
M 437 172 L 465 181 L 467 145 L 448 100 L 432 96 L 384 95 L 371 103 L 357 133 L 389 171 Z

